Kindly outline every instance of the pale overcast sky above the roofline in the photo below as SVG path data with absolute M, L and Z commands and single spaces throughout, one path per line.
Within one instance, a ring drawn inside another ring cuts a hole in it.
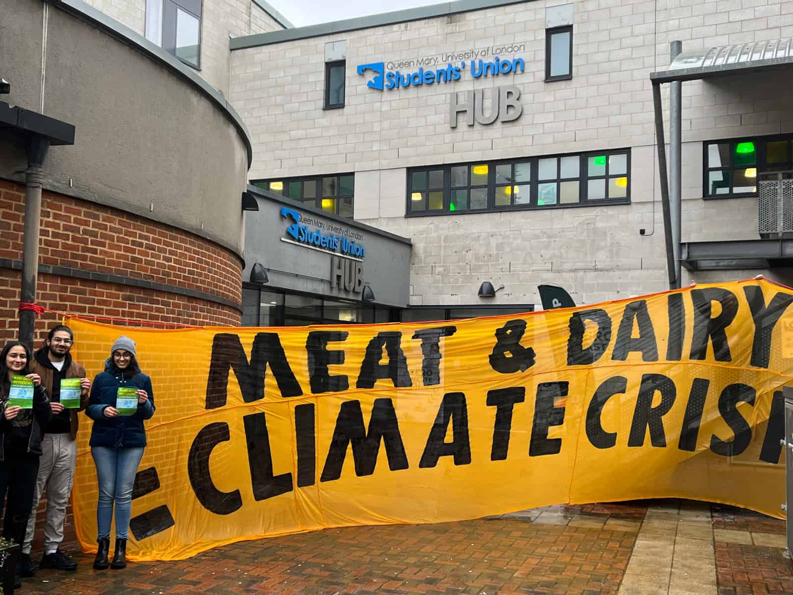
M 439 0 L 269 0 L 296 27 L 439 4 Z

